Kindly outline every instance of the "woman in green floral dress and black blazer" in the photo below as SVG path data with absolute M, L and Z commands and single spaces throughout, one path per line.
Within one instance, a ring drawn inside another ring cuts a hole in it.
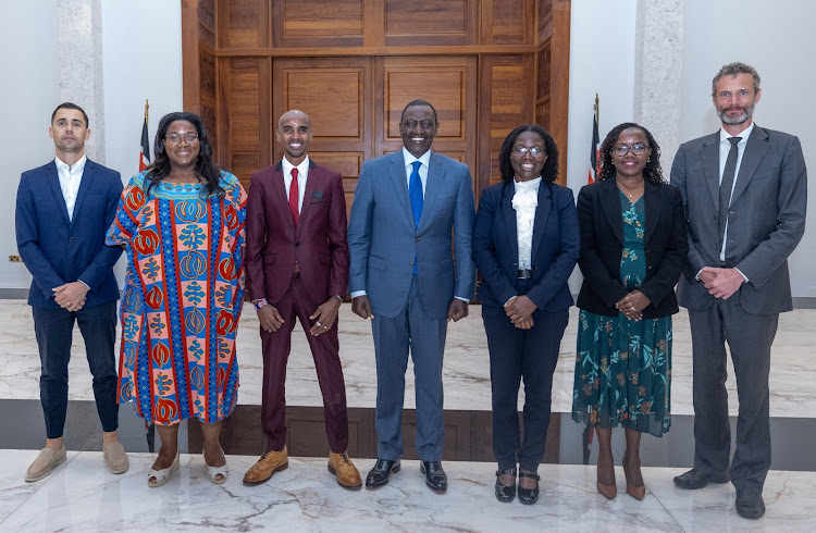
M 627 493 L 642 499 L 641 434 L 662 436 L 671 423 L 671 315 L 688 251 L 685 216 L 646 128 L 616 126 L 601 156 L 598 182 L 578 195 L 584 280 L 572 419 L 597 431 L 597 491 L 609 499 L 617 494 L 611 429 L 626 429 Z

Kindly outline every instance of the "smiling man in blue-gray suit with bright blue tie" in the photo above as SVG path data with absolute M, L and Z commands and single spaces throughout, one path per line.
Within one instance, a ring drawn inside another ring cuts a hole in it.
M 363 163 L 348 222 L 351 309 L 372 319 L 376 358 L 379 441 L 376 464 L 366 478 L 370 487 L 399 471 L 410 348 L 420 470 L 431 488 L 447 489 L 442 356 L 447 322 L 467 317 L 473 297 L 475 209 L 468 166 L 431 151 L 437 127 L 429 102 L 406 106 L 399 122 L 404 147 Z

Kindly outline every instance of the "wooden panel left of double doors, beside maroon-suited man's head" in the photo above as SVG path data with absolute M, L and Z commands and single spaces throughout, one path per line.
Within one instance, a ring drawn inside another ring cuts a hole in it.
M 271 163 L 270 59 L 222 58 L 219 75 L 219 162 L 248 187 L 250 174 Z

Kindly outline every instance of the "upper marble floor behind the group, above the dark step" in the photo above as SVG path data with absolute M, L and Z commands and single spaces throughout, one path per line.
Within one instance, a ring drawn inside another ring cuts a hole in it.
M 553 411 L 571 409 L 577 310 L 561 343 L 561 354 L 553 385 Z M 34 338 L 30 308 L 24 300 L 0 300 L 0 399 L 39 398 L 39 357 Z M 691 398 L 691 335 L 685 311 L 673 318 L 671 384 L 672 414 L 693 414 Z M 258 320 L 247 305 L 237 337 L 240 367 L 239 404 L 260 405 L 262 359 Z M 74 336 L 71 362 L 71 399 L 90 400 L 90 373 L 84 360 L 82 336 Z M 371 325 L 351 313 L 344 303 L 339 315 L 341 360 L 343 361 L 349 407 L 374 407 L 375 372 Z M 812 418 L 816 412 L 816 309 L 798 309 L 780 315 L 770 370 L 770 416 Z M 730 362 L 729 362 L 730 365 Z M 409 368 L 407 375 L 412 375 Z M 406 407 L 413 408 L 412 380 L 407 380 Z M 445 408 L 490 410 L 490 368 L 487 342 L 479 306 L 471 314 L 450 323 L 444 365 Z M 728 381 L 731 414 L 737 414 L 733 372 Z M 306 337 L 299 324 L 293 334 L 292 356 L 286 379 L 286 401 L 296 406 L 320 406 L 322 398 Z M 519 399 L 519 405 L 523 397 Z

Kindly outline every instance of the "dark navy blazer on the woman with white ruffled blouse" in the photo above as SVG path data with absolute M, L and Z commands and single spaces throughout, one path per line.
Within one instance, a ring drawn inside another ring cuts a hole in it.
M 515 295 L 519 270 L 519 246 L 512 182 L 482 190 L 473 224 L 473 260 L 482 274 L 479 299 L 486 306 L 503 307 Z M 542 182 L 535 208 L 532 244 L 532 281 L 527 293 L 542 311 L 569 309 L 572 295 L 567 280 L 581 250 L 578 216 L 572 190 Z

